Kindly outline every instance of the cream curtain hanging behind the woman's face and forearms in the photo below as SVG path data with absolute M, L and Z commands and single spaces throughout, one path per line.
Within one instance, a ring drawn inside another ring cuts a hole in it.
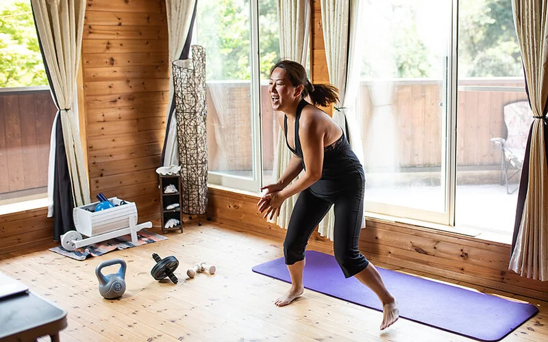
M 310 30 L 310 0 L 277 0 L 279 22 L 279 52 L 282 58 L 301 63 L 306 67 L 308 52 L 308 31 Z M 277 113 L 283 116 L 282 113 Z M 273 163 L 274 179 L 279 179 L 291 159 L 291 151 L 286 146 L 283 129 L 279 130 L 276 153 Z M 279 209 L 279 216 L 273 223 L 287 228 L 297 194 L 286 199 Z

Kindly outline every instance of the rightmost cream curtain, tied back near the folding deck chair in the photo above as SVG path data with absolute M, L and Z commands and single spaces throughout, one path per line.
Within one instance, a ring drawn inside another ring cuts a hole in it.
M 512 9 L 535 120 L 529 174 L 519 184 L 518 208 L 523 203 L 523 212 L 519 217 L 518 209 L 516 215 L 509 269 L 527 278 L 548 281 L 548 5 L 545 0 L 512 0 Z M 525 174 L 526 168 L 522 172 Z

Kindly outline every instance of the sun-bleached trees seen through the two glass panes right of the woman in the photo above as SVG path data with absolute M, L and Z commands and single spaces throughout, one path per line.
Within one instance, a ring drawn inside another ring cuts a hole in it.
M 380 0 L 369 1 L 367 10 L 377 10 Z M 443 38 L 436 44 L 426 44 L 416 25 L 425 18 L 417 18 L 417 10 L 427 11 L 413 2 L 390 1 L 381 7 L 374 20 L 384 16 L 382 28 L 388 31 L 380 42 L 378 32 L 364 34 L 366 53 L 362 61 L 362 77 L 440 77 L 446 57 Z M 429 15 L 447 16 L 449 13 Z M 424 14 L 424 13 L 422 13 Z M 436 23 L 437 18 L 433 18 Z M 421 22 L 422 21 L 422 22 Z M 439 22 L 438 24 L 439 25 Z M 435 25 L 427 23 L 432 30 Z M 366 25 L 375 29 L 375 25 Z M 443 30 L 443 27 L 439 27 Z M 436 35 L 433 34 L 433 37 Z M 460 0 L 459 1 L 459 77 L 521 76 L 521 56 L 516 42 L 511 0 Z M 449 31 L 447 33 L 449 44 Z M 371 53 L 375 51 L 375 53 Z

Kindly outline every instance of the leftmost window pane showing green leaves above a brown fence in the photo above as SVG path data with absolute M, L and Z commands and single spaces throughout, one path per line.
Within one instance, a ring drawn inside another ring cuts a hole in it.
M 49 137 L 57 109 L 30 1 L 0 2 L 0 214 L 45 198 Z M 35 204 L 40 207 L 43 204 Z M 10 206 L 7 206 L 10 205 Z

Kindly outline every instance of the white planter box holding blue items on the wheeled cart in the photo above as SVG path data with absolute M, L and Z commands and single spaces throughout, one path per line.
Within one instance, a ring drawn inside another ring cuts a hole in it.
M 129 227 L 130 218 L 137 223 L 137 207 L 134 202 L 124 201 L 116 197 L 108 198 L 110 202 L 118 207 L 108 208 L 101 211 L 93 211 L 99 202 L 76 207 L 73 210 L 74 226 L 76 231 L 82 235 L 92 237 L 95 235 L 116 231 L 120 228 Z M 87 211 L 89 209 L 90 211 Z

